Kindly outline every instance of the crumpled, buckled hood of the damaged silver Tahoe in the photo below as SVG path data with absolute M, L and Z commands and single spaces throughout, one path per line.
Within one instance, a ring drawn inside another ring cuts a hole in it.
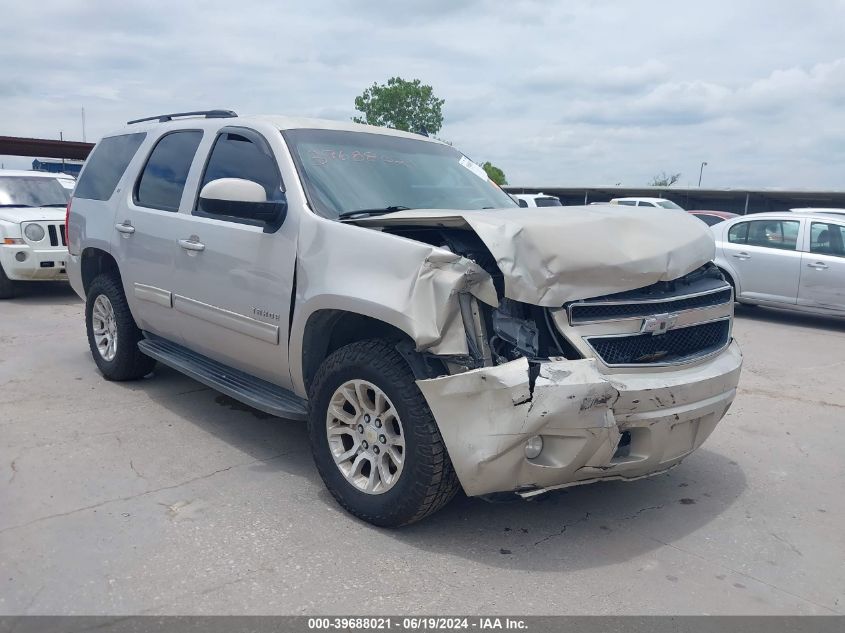
M 677 279 L 715 256 L 707 225 L 676 209 L 415 209 L 353 222 L 470 228 L 496 258 L 505 296 L 546 307 Z

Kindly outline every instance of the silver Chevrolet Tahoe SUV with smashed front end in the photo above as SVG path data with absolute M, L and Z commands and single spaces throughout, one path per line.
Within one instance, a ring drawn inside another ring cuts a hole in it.
M 68 236 L 107 379 L 158 361 L 307 419 L 326 486 L 376 525 L 459 487 L 665 471 L 739 379 L 699 220 L 522 209 L 415 134 L 219 110 L 130 122 L 89 157 Z

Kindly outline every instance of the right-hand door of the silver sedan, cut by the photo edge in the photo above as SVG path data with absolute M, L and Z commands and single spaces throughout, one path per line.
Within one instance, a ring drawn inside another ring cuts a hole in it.
M 845 223 L 810 221 L 799 305 L 845 311 Z

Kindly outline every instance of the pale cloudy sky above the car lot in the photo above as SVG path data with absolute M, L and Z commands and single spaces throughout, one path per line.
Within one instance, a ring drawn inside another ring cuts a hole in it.
M 515 185 L 845 189 L 845 0 L 5 2 L 0 135 L 231 108 L 348 119 L 391 76 Z M 24 159 L 2 158 L 6 167 Z

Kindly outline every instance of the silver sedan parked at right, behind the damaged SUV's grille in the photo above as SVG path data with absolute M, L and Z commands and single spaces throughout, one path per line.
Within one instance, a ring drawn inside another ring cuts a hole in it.
M 711 230 L 740 303 L 845 315 L 845 217 L 755 213 Z

